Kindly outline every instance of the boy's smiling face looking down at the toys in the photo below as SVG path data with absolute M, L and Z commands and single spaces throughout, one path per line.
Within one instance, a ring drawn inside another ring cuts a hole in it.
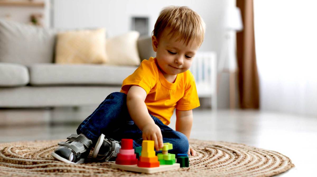
M 199 48 L 195 43 L 184 44 L 183 40 L 177 40 L 178 36 L 168 36 L 169 32 L 170 30 L 165 28 L 159 39 L 152 36 L 153 50 L 165 78 L 187 71 Z

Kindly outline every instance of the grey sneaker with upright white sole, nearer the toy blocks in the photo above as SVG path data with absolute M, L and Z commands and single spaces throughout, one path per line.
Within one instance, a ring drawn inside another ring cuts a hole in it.
M 105 138 L 101 134 L 93 152 L 93 157 L 100 161 L 115 161 L 121 148 L 121 142 L 111 138 Z

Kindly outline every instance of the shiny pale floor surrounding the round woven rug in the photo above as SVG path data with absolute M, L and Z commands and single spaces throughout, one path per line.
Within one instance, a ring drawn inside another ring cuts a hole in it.
M 65 139 L 75 133 L 78 124 L 94 108 L 0 109 L 0 143 Z M 175 116 L 171 120 L 170 126 L 175 128 Z M 295 164 L 295 168 L 279 176 L 317 174 L 317 117 L 252 110 L 195 109 L 191 138 L 243 143 L 278 151 Z

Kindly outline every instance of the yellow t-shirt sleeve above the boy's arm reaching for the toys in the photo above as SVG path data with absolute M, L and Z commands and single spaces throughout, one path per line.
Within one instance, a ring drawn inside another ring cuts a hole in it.
M 133 74 L 123 80 L 120 92 L 127 94 L 130 87 L 136 85 L 142 87 L 148 94 L 155 86 L 157 77 L 153 62 L 143 61 Z

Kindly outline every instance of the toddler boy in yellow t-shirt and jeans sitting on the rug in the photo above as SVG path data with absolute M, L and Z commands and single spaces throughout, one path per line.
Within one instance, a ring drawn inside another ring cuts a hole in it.
M 191 72 L 194 56 L 203 42 L 205 24 L 188 7 L 164 8 L 155 23 L 152 47 L 156 57 L 143 60 L 133 74 L 98 106 L 78 127 L 77 134 L 51 154 L 67 163 L 82 163 L 94 146 L 93 157 L 113 161 L 120 139 L 154 140 L 157 151 L 163 142 L 173 144 L 170 153 L 195 155 L 189 148 L 192 109 L 199 104 Z M 176 131 L 168 127 L 176 108 Z

